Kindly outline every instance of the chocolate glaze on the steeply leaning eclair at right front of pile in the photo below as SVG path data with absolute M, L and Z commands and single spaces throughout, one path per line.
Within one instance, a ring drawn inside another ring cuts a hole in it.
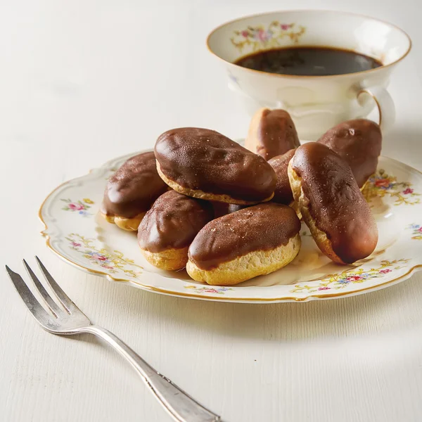
M 302 178 L 309 214 L 335 254 L 345 263 L 370 255 L 378 229 L 347 162 L 322 143 L 309 142 L 296 150 L 292 168 Z

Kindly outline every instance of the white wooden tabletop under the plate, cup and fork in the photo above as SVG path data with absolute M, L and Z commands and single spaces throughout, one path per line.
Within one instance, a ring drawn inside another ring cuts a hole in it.
M 96 323 L 227 422 L 422 420 L 422 274 L 350 299 L 242 305 L 170 298 L 87 275 L 53 256 L 37 210 L 66 179 L 153 146 L 172 127 L 243 136 L 205 49 L 219 23 L 279 8 L 358 11 L 402 26 L 397 124 L 383 154 L 422 170 L 417 0 L 3 1 L 0 262 L 37 254 Z M 1 421 L 168 421 L 125 362 L 89 336 L 37 326 L 0 270 Z

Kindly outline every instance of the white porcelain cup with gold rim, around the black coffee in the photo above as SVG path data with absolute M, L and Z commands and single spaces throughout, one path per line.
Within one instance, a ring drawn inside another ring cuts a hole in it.
M 288 46 L 328 46 L 376 58 L 379 68 L 345 75 L 295 76 L 235 65 L 256 51 Z M 283 108 L 300 139 L 318 139 L 345 120 L 366 117 L 378 107 L 381 129 L 395 120 L 386 90 L 390 74 L 411 49 L 403 30 L 381 20 L 337 11 L 279 11 L 252 15 L 213 30 L 207 46 L 222 59 L 229 87 L 252 115 L 258 108 Z

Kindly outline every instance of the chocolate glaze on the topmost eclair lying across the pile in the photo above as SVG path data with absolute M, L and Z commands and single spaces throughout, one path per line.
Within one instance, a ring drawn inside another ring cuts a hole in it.
M 184 188 L 259 202 L 269 198 L 276 175 L 265 160 L 209 129 L 182 127 L 155 143 L 163 174 Z

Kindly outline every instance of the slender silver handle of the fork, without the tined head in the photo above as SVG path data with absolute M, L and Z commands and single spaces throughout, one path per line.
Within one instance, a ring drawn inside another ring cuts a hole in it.
M 221 418 L 205 409 L 196 402 L 184 390 L 172 383 L 169 378 L 155 371 L 147 364 L 134 350 L 113 333 L 100 326 L 88 326 L 80 328 L 80 333 L 91 333 L 96 335 L 111 345 L 122 357 L 127 359 L 134 369 L 139 373 L 146 385 L 153 391 L 155 397 L 162 406 L 170 413 L 174 420 L 178 422 L 218 422 Z

